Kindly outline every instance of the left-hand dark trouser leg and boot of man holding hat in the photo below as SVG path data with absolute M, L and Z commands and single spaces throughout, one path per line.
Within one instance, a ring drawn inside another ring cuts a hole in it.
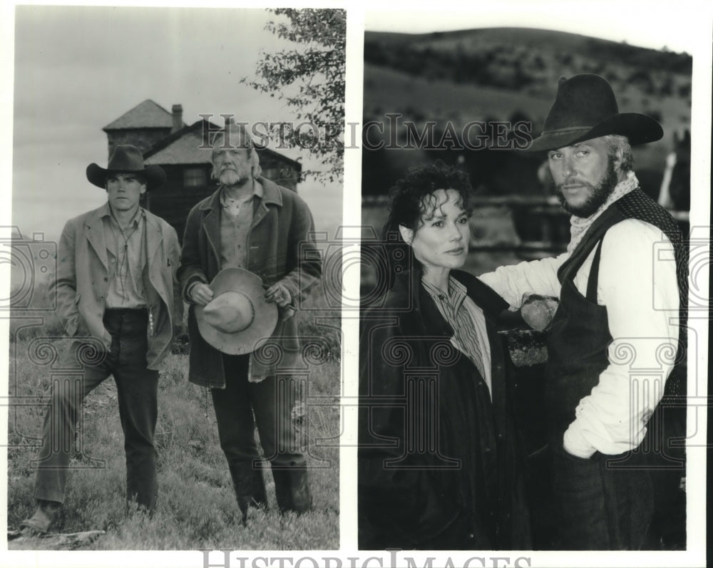
M 255 443 L 247 370 L 249 356 L 223 356 L 225 389 L 212 389 L 218 438 L 227 460 L 238 506 L 267 506 L 265 480 Z

